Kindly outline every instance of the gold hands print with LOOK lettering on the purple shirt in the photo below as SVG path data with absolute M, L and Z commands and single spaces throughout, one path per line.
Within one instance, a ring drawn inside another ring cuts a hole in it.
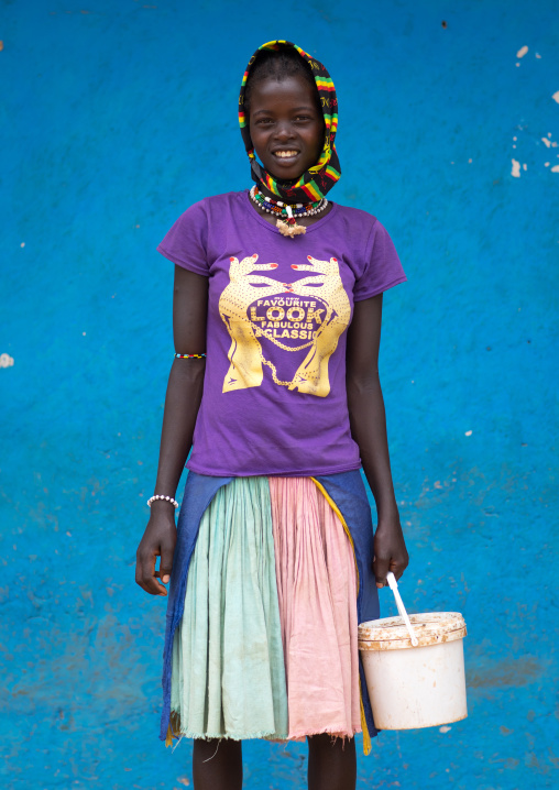
M 330 392 L 328 361 L 351 318 L 338 261 L 335 257 L 318 261 L 308 255 L 308 263 L 292 264 L 292 268 L 311 272 L 310 276 L 295 283 L 278 283 L 253 274 L 278 265 L 256 264 L 257 257 L 254 254 L 240 262 L 237 257 L 230 259 L 229 285 L 219 299 L 219 314 L 231 337 L 230 366 L 222 392 L 260 386 L 264 378 L 263 365 L 267 365 L 275 384 L 326 397 Z M 288 353 L 308 349 L 289 381 L 278 377 L 259 338 Z M 298 342 L 300 340 L 305 342 Z

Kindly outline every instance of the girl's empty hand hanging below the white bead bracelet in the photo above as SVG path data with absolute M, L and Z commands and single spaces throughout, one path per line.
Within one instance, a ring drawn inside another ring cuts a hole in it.
M 158 500 L 152 503 L 150 520 L 136 551 L 135 581 L 150 595 L 166 595 L 166 584 L 173 570 L 173 555 L 177 540 L 175 507 Z M 160 570 L 155 570 L 155 558 L 161 557 Z

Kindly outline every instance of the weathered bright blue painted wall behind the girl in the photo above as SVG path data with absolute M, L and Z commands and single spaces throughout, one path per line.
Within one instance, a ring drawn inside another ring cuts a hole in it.
M 190 746 L 156 738 L 164 601 L 133 581 L 173 351 L 155 245 L 193 201 L 250 186 L 240 78 L 287 37 L 338 88 L 332 198 L 381 219 L 409 277 L 382 352 L 404 600 L 469 626 L 470 717 L 382 734 L 360 786 L 557 787 L 557 8 L 242 8 L 1 4 L 3 784 L 190 781 Z M 246 787 L 303 787 L 304 754 L 248 745 Z

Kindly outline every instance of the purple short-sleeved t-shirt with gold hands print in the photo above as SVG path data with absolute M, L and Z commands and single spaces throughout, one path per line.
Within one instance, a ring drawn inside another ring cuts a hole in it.
M 406 279 L 383 226 L 333 204 L 291 239 L 254 210 L 248 191 L 228 193 L 187 209 L 157 250 L 209 277 L 204 395 L 188 469 L 227 476 L 359 469 L 347 329 L 353 303 Z

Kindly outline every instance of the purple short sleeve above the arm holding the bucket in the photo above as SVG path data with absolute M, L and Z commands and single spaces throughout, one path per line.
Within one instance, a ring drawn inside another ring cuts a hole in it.
M 363 273 L 355 281 L 353 300 L 362 301 L 407 279 L 386 229 L 376 220 L 365 250 Z

